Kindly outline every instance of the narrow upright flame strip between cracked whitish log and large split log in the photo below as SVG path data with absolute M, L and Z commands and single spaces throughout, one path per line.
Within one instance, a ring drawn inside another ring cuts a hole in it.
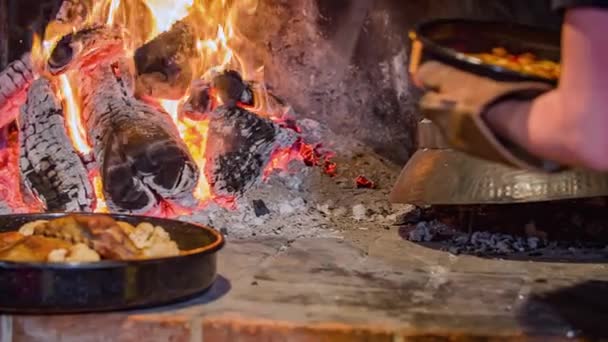
M 80 107 L 74 96 L 74 88 L 67 74 L 59 76 L 61 84 L 61 97 L 63 98 L 63 107 L 66 118 L 66 128 L 72 145 L 76 151 L 83 155 L 91 153 L 91 146 L 87 141 L 87 133 L 82 123 L 80 115 Z

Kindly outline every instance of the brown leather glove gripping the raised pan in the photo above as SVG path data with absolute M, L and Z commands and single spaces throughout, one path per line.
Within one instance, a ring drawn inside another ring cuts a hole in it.
M 494 115 L 497 112 L 490 110 L 505 101 L 530 102 L 551 86 L 540 82 L 499 82 L 436 61 L 423 64 L 414 79 L 426 90 L 420 101 L 423 115 L 439 127 L 453 148 L 519 168 L 558 168 L 509 139 L 505 128 L 518 127 L 515 113 Z

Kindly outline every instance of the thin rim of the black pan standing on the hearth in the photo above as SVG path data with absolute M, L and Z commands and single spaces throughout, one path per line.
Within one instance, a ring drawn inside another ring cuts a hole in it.
M 153 217 L 153 216 L 143 216 L 143 215 L 130 215 L 130 214 L 113 214 L 113 213 L 87 213 L 87 212 L 73 212 L 73 213 L 24 213 L 24 214 L 8 214 L 8 215 L 0 215 L 0 218 L 10 218 L 10 217 L 40 217 L 40 218 L 57 218 L 63 217 L 67 215 L 85 215 L 85 216 L 110 216 L 114 219 L 119 219 L 120 217 L 127 217 L 135 220 L 141 220 L 142 222 L 146 219 L 150 220 L 160 220 L 167 222 L 179 222 L 180 224 L 185 224 L 187 226 L 203 229 L 209 235 L 213 236 L 214 240 L 204 246 L 199 248 L 190 249 L 184 251 L 180 255 L 169 256 L 169 257 L 161 257 L 161 258 L 150 258 L 150 259 L 141 259 L 141 260 L 100 260 L 100 261 L 92 261 L 92 262 L 62 262 L 62 263 L 52 263 L 52 262 L 21 262 L 21 261 L 5 261 L 0 260 L 0 269 L 23 269 L 23 268 L 31 268 L 31 269 L 99 269 L 99 268 L 117 268 L 117 267 L 129 267 L 129 266 L 139 266 L 145 264 L 154 264 L 161 262 L 170 262 L 171 260 L 179 260 L 184 258 L 191 258 L 197 256 L 204 256 L 208 254 L 214 254 L 220 249 L 222 249 L 226 243 L 226 239 L 223 234 L 213 228 L 204 226 L 199 223 L 186 222 L 181 220 L 169 219 L 169 218 L 161 218 L 161 217 Z

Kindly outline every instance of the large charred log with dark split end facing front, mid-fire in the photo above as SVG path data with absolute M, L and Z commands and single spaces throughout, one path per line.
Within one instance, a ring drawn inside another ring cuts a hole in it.
M 198 170 L 165 112 L 134 97 L 126 59 L 81 76 L 83 114 L 110 209 L 146 212 L 192 193 Z

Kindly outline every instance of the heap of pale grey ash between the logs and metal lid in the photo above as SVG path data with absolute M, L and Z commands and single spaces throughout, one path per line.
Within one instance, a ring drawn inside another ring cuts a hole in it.
M 211 205 L 180 219 L 214 227 L 228 238 L 282 236 L 294 239 L 342 237 L 346 231 L 355 229 L 387 229 L 400 213 L 410 210 L 411 206 L 392 205 L 387 199 L 399 165 L 391 168 L 363 145 L 342 139 L 312 120 L 306 122 L 307 128 L 313 128 L 307 134 L 309 138 L 305 138 L 307 142 L 331 141 L 332 146 L 344 144 L 354 149 L 346 157 L 342 153 L 336 154 L 337 177 L 326 175 L 322 168 L 293 161 L 287 170 L 275 171 L 265 182 L 247 191 L 238 199 L 236 210 Z M 346 150 L 346 147 L 338 146 L 338 149 Z M 332 147 L 331 150 L 336 149 Z M 359 174 L 387 181 L 378 189 L 357 189 L 354 178 Z M 256 207 L 258 214 L 263 212 L 261 206 L 269 213 L 256 215 Z

